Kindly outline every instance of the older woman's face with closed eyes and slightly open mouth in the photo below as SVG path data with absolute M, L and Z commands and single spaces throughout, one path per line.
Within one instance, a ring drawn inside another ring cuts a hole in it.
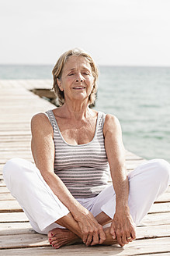
M 83 56 L 72 55 L 64 64 L 61 79 L 57 84 L 64 91 L 64 100 L 84 101 L 92 92 L 94 77 L 88 60 Z

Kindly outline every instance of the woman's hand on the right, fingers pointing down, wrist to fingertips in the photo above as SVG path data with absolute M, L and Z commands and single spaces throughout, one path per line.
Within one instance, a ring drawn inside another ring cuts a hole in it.
M 134 221 L 129 211 L 123 208 L 117 210 L 110 226 L 110 234 L 113 239 L 117 239 L 117 243 L 123 247 L 136 239 L 135 229 Z

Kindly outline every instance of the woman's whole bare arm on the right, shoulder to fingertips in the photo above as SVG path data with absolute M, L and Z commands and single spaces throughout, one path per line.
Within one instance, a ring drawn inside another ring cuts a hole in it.
M 116 213 L 110 228 L 113 238 L 123 246 L 136 238 L 135 226 L 128 206 L 129 182 L 125 164 L 125 149 L 120 123 L 115 116 L 107 115 L 103 127 L 106 155 L 109 161 L 113 187 L 116 192 Z M 132 237 L 127 240 L 127 237 Z

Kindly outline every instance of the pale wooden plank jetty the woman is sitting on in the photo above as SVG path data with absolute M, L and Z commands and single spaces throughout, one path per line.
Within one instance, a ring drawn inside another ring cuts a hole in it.
M 29 90 L 49 89 L 51 84 L 50 80 L 0 80 L 0 255 L 170 255 L 170 188 L 137 227 L 137 240 L 123 248 L 75 244 L 56 251 L 46 235 L 33 231 L 22 208 L 5 187 L 2 168 L 13 157 L 33 162 L 30 119 L 36 112 L 55 106 Z M 128 172 L 143 161 L 127 151 Z

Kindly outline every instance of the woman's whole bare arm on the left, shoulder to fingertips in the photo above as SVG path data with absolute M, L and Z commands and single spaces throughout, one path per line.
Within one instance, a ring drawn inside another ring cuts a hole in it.
M 32 142 L 31 149 L 36 167 L 40 170 L 43 179 L 47 182 L 54 194 L 68 208 L 71 215 L 78 222 L 86 242 L 88 235 L 93 236 L 96 244 L 105 240 L 102 226 L 95 220 L 91 212 L 79 204 L 71 195 L 62 180 L 54 173 L 54 133 L 50 121 L 43 113 L 33 116 L 31 120 Z

